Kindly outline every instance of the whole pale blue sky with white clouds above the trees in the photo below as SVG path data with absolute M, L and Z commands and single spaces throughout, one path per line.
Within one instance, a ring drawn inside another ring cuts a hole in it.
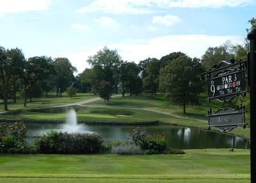
M 254 0 L 0 0 L 0 46 L 25 57 L 66 57 L 78 73 L 107 46 L 138 63 L 243 43 Z

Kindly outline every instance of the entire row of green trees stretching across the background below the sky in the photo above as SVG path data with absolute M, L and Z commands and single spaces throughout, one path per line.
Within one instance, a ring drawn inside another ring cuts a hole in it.
M 256 27 L 254 18 L 249 21 Z M 68 91 L 99 93 L 105 101 L 109 101 L 111 93 L 141 95 L 142 92 L 156 95 L 163 92 L 171 103 L 183 106 L 199 103 L 199 94 L 204 83 L 200 74 L 214 64 L 230 58 L 246 59 L 248 41 L 243 44 L 232 44 L 230 41 L 221 46 L 209 47 L 201 58 L 190 58 L 182 52 L 171 52 L 162 58 L 147 58 L 135 62 L 122 60 L 117 50 L 104 47 L 95 55 L 89 56 L 86 68 L 74 77 L 77 68 L 67 58 L 51 59 L 47 56 L 35 56 L 25 59 L 19 48 L 5 50 L 0 47 L 0 87 L 1 97 L 7 110 L 7 99 L 13 98 L 21 91 L 24 106 L 27 99 L 38 97 L 42 91 L 46 93 Z M 61 95 L 60 93 L 60 95 Z

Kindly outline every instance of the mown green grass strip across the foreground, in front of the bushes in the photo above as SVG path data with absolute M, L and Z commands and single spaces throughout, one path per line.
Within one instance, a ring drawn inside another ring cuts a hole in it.
M 0 155 L 0 180 L 1 182 L 250 181 L 248 150 L 235 149 L 234 152 L 229 152 L 229 149 L 203 149 L 185 152 L 186 154 L 182 155 L 133 156 L 5 154 Z

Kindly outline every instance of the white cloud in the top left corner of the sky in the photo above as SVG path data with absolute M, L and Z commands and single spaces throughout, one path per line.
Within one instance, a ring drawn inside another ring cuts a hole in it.
M 44 11 L 50 6 L 50 3 L 51 0 L 0 0 L 0 16 L 23 11 Z

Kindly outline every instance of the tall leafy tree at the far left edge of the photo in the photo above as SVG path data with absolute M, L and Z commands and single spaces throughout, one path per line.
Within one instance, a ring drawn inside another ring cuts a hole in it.
M 19 48 L 5 50 L 0 46 L 0 82 L 2 84 L 3 103 L 5 111 L 8 110 L 7 100 L 10 82 L 21 73 L 25 57 Z

